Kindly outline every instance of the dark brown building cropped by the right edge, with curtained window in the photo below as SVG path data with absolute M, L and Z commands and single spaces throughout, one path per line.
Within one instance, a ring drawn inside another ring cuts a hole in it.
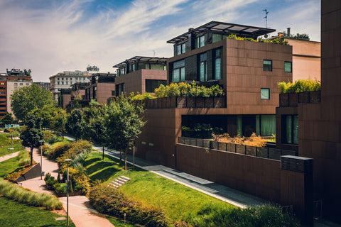
M 313 200 L 323 218 L 340 221 L 340 1 L 321 1 L 321 91 L 281 94 L 276 146 L 313 158 Z

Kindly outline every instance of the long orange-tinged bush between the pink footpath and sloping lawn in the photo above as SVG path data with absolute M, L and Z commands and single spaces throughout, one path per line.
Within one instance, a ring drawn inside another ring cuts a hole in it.
M 107 185 L 93 187 L 89 200 L 90 204 L 102 214 L 118 218 L 124 218 L 126 214 L 126 220 L 132 223 L 144 226 L 167 226 L 166 217 L 161 210 L 128 199 L 123 192 Z

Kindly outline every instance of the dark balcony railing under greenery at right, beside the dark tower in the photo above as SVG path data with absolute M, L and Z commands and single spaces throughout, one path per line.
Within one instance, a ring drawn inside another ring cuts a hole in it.
M 279 94 L 279 106 L 297 106 L 298 104 L 317 104 L 321 102 L 321 91 Z

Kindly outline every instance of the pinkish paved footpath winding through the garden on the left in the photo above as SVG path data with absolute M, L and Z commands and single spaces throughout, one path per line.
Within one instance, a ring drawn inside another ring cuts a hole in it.
M 27 148 L 28 149 L 28 148 Z M 7 157 L 8 156 L 8 157 Z M 14 153 L 11 155 L 5 155 L 5 158 L 15 157 Z M 2 158 L 2 157 L 1 157 Z M 33 159 L 36 162 L 40 162 L 40 152 L 37 149 L 33 150 Z M 48 160 L 46 157 L 42 157 L 43 160 L 43 172 L 50 174 L 53 177 L 58 177 L 58 165 L 57 162 L 53 162 Z M 0 160 L 3 161 L 3 160 Z M 36 177 L 33 179 L 28 179 L 26 181 L 21 182 L 21 186 L 27 189 L 31 189 L 34 192 L 46 193 L 46 194 L 54 194 L 52 191 L 48 191 L 45 189 L 45 181 L 44 177 L 40 179 L 40 177 Z M 63 207 L 66 211 L 66 197 L 60 197 L 60 201 L 63 202 Z M 86 196 L 70 196 L 69 197 L 69 216 L 75 226 L 78 227 L 94 227 L 94 226 L 104 226 L 104 227 L 112 227 L 112 223 L 110 223 L 107 218 L 105 218 L 102 214 L 97 213 L 94 209 L 92 209 L 89 199 Z

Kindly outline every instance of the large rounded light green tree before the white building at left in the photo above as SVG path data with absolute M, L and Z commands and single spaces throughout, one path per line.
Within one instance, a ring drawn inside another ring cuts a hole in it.
M 34 109 L 53 104 L 52 94 L 36 84 L 21 87 L 11 94 L 11 109 L 18 120 L 23 119 Z

